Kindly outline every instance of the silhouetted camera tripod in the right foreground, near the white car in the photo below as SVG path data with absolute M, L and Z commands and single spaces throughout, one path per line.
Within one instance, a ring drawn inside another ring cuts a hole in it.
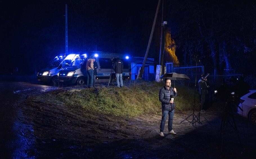
M 231 107 L 233 102 L 234 102 L 234 100 L 228 99 L 225 103 L 225 106 L 224 106 L 223 117 L 222 117 L 222 120 L 221 120 L 221 132 L 220 132 L 220 135 L 219 135 L 219 139 L 220 139 L 219 144 L 221 144 L 220 145 L 221 146 L 221 152 L 220 152 L 221 157 L 222 157 L 222 153 L 223 153 L 224 136 L 225 136 L 225 134 L 228 130 L 228 124 L 230 124 L 231 127 L 237 133 L 239 143 L 240 143 L 241 147 L 243 148 L 242 143 L 241 143 L 241 139 L 239 137 L 239 132 L 238 132 L 238 129 L 237 129 L 237 126 L 236 126 L 236 123 L 235 123 L 234 113 L 233 113 L 233 110 L 232 110 L 232 107 Z M 231 116 L 232 123 L 229 120 L 229 116 Z

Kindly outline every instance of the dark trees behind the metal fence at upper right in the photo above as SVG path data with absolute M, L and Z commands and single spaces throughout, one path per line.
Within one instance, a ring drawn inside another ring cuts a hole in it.
M 168 3 L 167 19 L 183 64 L 200 62 L 209 71 L 234 69 L 256 73 L 256 6 L 254 1 Z

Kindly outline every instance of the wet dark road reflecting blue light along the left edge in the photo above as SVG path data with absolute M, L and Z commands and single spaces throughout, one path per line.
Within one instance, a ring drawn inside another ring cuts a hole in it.
M 1 158 L 34 158 L 34 130 L 21 113 L 20 105 L 29 95 L 47 91 L 51 86 L 25 82 L 1 82 L 0 88 L 0 156 Z

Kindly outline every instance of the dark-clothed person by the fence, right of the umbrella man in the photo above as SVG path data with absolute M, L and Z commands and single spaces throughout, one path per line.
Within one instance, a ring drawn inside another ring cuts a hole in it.
M 204 113 L 204 104 L 205 104 L 205 98 L 206 95 L 208 94 L 208 88 L 209 86 L 206 83 L 207 79 L 204 78 L 204 75 L 201 75 L 201 79 L 198 81 L 198 86 L 199 86 L 199 93 L 201 95 L 201 103 L 200 103 L 200 112 Z

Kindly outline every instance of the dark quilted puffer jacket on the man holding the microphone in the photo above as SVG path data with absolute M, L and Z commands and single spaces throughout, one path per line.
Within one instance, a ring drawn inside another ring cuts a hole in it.
M 170 86 L 170 91 L 163 86 L 159 91 L 159 100 L 162 103 L 162 110 L 172 111 L 175 109 L 175 103 L 170 103 L 171 95 L 174 95 L 174 98 L 177 97 L 178 93 L 173 91 L 172 86 Z

